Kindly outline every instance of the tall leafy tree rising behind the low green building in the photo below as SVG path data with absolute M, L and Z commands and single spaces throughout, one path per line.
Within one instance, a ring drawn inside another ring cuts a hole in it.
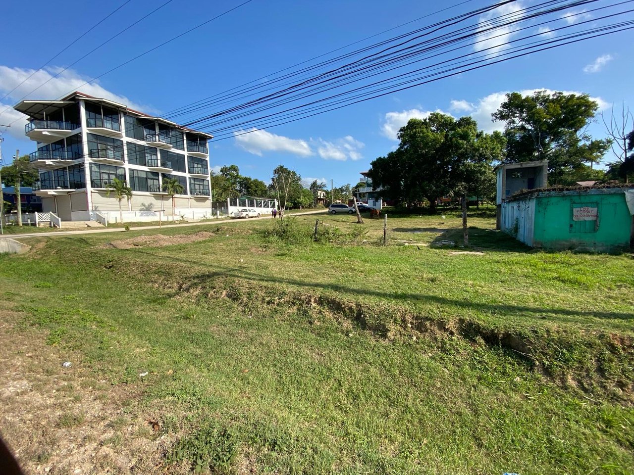
M 581 165 L 600 162 L 611 140 L 593 140 L 585 132 L 597 110 L 597 103 L 588 94 L 507 94 L 493 113 L 493 120 L 505 122 L 505 162 L 548 160 L 548 181 L 553 184 L 565 181 L 566 174 Z

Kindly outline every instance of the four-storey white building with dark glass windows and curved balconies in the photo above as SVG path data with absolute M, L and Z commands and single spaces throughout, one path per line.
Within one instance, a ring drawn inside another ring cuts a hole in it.
M 159 210 L 171 214 L 163 181 L 175 178 L 176 215 L 211 215 L 209 151 L 213 137 L 82 92 L 58 101 L 22 101 L 29 116 L 26 135 L 37 141 L 30 162 L 39 168 L 36 194 L 42 210 L 61 220 L 94 220 L 96 213 L 119 220 L 119 201 L 107 196 L 116 177 L 133 189 L 122 201 L 124 221 L 145 220 Z

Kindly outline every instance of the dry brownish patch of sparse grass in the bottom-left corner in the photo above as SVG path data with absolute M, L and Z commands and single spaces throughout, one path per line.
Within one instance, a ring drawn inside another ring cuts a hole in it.
M 174 436 L 161 434 L 160 415 L 141 407 L 143 388 L 100 380 L 79 355 L 46 345 L 10 306 L 0 302 L 0 436 L 24 471 L 164 472 Z

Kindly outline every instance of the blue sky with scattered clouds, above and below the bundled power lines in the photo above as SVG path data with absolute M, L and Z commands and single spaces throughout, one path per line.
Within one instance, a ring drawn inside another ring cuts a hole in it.
M 122 3 L 124 0 L 66 0 L 63 3 L 32 0 L 5 4 L 0 97 Z M 161 3 L 162 0 L 132 0 L 0 101 L 0 110 L 14 105 L 52 74 Z M 87 79 L 239 3 L 240 0 L 172 1 L 71 66 L 29 98 L 58 98 Z M 460 2 L 442 3 L 439 7 L 441 3 L 410 0 L 391 3 L 377 0 L 253 0 L 97 82 L 81 87 L 81 90 L 162 115 L 455 3 Z M 534 3 L 517 2 L 521 5 Z M 377 39 L 485 4 L 488 2 L 472 0 Z M 328 184 L 333 179 L 335 186 L 355 184 L 359 171 L 366 170 L 374 158 L 385 155 L 398 144 L 395 139 L 398 127 L 409 117 L 424 117 L 429 111 L 441 110 L 455 117 L 471 114 L 482 129 L 493 130 L 500 124 L 490 122 L 490 113 L 503 100 L 504 92 L 541 88 L 586 92 L 597 98 L 602 108 L 608 108 L 608 113 L 612 103 L 620 109 L 621 101 L 634 109 L 634 88 L 631 87 L 634 78 L 633 31 L 463 73 L 292 124 L 259 130 L 238 139 L 212 141 L 210 165 L 236 164 L 243 174 L 268 181 L 271 170 L 282 163 L 305 178 L 323 179 Z M 23 120 L 15 111 L 8 110 L 0 115 L 0 124 L 14 120 L 11 129 L 0 129 L 4 130 L 5 163 L 16 148 L 20 153 L 29 153 L 36 146 L 23 137 Z M 600 121 L 590 127 L 590 132 L 595 137 L 605 136 Z M 605 162 L 611 160 L 612 156 L 607 155 Z

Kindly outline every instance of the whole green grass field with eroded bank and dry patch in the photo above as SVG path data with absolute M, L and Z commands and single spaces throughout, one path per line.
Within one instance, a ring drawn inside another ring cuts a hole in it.
M 468 250 L 453 214 L 389 217 L 387 246 L 382 220 L 285 222 L 0 257 L 0 431 L 23 464 L 634 471 L 630 254 L 529 250 L 486 211 Z

